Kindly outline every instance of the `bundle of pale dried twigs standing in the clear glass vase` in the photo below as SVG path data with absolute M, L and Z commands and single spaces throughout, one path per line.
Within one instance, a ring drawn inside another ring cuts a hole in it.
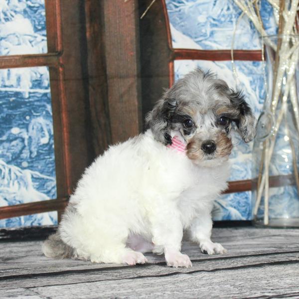
M 266 35 L 262 19 L 259 12 L 260 0 L 235 0 L 236 4 L 242 9 L 254 23 L 257 30 L 262 36 Z M 257 185 L 257 200 L 254 207 L 254 215 L 257 216 L 258 209 L 261 203 L 261 198 L 264 193 L 264 224 L 269 224 L 269 169 L 272 159 L 276 138 L 283 119 L 286 120 L 288 101 L 292 103 L 295 115 L 296 132 L 299 132 L 299 116 L 298 116 L 298 100 L 295 84 L 295 68 L 298 64 L 299 55 L 297 53 L 299 47 L 299 38 L 291 37 L 290 34 L 298 32 L 295 20 L 297 16 L 297 7 L 299 0 L 268 0 L 274 7 L 274 11 L 279 10 L 279 40 L 277 46 L 270 39 L 264 36 L 266 44 L 271 46 L 276 51 L 276 59 L 274 65 L 274 82 L 273 93 L 271 98 L 270 110 L 276 117 L 275 130 L 272 136 L 267 139 L 263 144 L 263 153 L 260 161 L 258 185 Z M 289 5 L 290 4 L 290 5 Z M 275 12 L 276 13 L 276 12 Z M 233 56 L 232 56 L 233 57 Z M 281 105 L 278 102 L 281 100 Z M 278 110 L 279 107 L 279 110 Z M 266 103 L 264 109 L 267 109 Z M 299 177 L 297 167 L 297 157 L 294 142 L 291 139 L 288 123 L 286 123 L 288 140 L 292 151 L 293 168 L 295 172 L 295 181 L 299 189 Z

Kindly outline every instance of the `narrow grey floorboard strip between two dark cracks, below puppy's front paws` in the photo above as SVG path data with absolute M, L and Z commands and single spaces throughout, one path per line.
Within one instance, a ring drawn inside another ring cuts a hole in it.
M 0 279 L 1 289 L 35 288 L 44 286 L 67 285 L 74 283 L 90 283 L 100 281 L 122 281 L 139 277 L 165 277 L 177 273 L 199 274 L 200 272 L 216 272 L 221 270 L 236 270 L 242 267 L 253 268 L 256 266 L 293 263 L 299 261 L 299 252 L 285 254 L 255 255 L 246 257 L 234 257 L 227 259 L 207 259 L 193 261 L 191 268 L 171 268 L 165 265 L 147 264 L 142 267 L 122 267 L 120 269 L 86 269 L 86 271 L 68 271 L 56 275 L 28 275 L 15 276 Z

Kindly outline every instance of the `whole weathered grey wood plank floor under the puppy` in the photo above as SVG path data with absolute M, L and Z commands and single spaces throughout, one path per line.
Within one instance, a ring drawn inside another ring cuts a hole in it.
M 0 298 L 299 298 L 299 230 L 217 228 L 228 250 L 202 254 L 183 243 L 192 268 L 169 268 L 147 254 L 140 266 L 44 257 L 42 241 L 0 242 Z

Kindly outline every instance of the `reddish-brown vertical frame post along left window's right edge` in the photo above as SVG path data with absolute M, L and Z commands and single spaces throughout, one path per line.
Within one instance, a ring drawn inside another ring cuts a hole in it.
M 48 52 L 63 53 L 62 19 L 60 0 L 46 0 L 46 29 Z M 61 55 L 60 55 L 61 56 Z M 69 147 L 69 120 L 67 96 L 65 94 L 63 58 L 59 56 L 59 66 L 49 67 L 51 102 L 54 128 L 54 152 L 57 198 L 67 197 L 71 192 L 71 161 Z M 59 204 L 58 220 L 64 205 Z M 53 208 L 55 206 L 53 205 Z

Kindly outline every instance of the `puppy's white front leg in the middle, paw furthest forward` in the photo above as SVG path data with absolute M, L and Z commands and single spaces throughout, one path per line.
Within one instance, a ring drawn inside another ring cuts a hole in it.
M 154 244 L 153 252 L 164 252 L 167 266 L 176 268 L 192 267 L 189 257 L 180 252 L 183 227 L 175 208 L 173 206 L 169 209 L 163 207 L 163 212 L 159 209 L 152 215 L 154 217 L 150 217 L 150 222 L 152 242 Z

